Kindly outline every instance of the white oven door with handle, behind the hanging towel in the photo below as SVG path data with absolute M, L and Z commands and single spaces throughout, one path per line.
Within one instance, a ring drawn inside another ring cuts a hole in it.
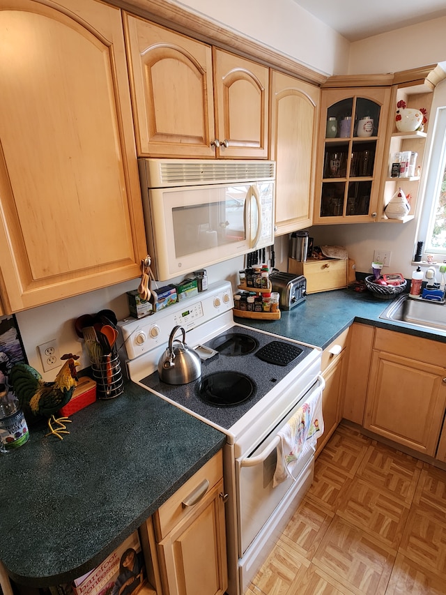
M 279 508 L 282 500 L 291 491 L 299 489 L 299 480 L 302 471 L 309 461 L 314 458 L 316 440 L 306 442 L 298 463 L 293 468 L 292 477 L 288 476 L 282 483 L 273 487 L 273 477 L 277 465 L 277 447 L 280 444 L 278 432 L 291 417 L 298 412 L 300 407 L 309 400 L 318 399 L 320 404 L 322 391 L 325 386 L 323 377 L 318 376 L 318 381 L 305 395 L 286 413 L 282 421 L 270 432 L 268 437 L 254 447 L 247 457 L 236 460 L 238 474 L 238 506 L 239 506 L 239 556 L 249 548 L 254 538 L 261 532 L 268 518 Z M 316 395 L 316 393 L 318 393 Z M 318 435 L 319 436 L 319 435 Z

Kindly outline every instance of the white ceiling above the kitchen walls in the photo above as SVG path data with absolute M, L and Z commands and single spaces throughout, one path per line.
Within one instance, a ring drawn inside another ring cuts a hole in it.
M 446 16 L 445 0 L 294 0 L 349 41 Z

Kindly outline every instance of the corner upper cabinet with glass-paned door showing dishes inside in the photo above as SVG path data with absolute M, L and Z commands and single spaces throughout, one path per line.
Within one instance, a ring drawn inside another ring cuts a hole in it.
M 376 220 L 390 87 L 323 89 L 314 224 Z

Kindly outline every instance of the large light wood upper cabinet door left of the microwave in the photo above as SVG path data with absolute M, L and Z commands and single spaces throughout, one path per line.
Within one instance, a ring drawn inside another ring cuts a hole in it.
M 121 11 L 0 0 L 3 309 L 139 276 L 146 241 Z

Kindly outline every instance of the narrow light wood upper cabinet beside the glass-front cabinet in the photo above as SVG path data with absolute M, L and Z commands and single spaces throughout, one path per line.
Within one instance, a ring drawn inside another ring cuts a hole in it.
M 276 235 L 312 225 L 318 87 L 272 70 L 270 158 L 276 161 Z

